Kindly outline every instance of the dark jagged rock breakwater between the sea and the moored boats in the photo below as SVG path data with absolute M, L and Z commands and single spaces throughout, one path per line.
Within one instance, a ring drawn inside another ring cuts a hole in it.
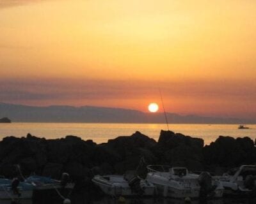
M 136 132 L 119 136 L 107 143 L 96 144 L 77 136 L 46 140 L 28 134 L 8 136 L 0 142 L 0 175 L 17 177 L 19 164 L 26 177 L 31 173 L 60 179 L 70 174 L 79 189 L 95 192 L 91 179 L 95 174 L 135 170 L 143 157 L 147 164 L 185 166 L 189 170 L 216 171 L 256 162 L 256 147 L 248 137 L 234 139 L 220 136 L 204 146 L 204 140 L 172 131 L 161 131 L 156 142 Z

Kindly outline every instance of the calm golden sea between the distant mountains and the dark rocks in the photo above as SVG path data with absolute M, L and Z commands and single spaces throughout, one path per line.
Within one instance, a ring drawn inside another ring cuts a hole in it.
M 238 125 L 226 124 L 170 124 L 170 130 L 175 133 L 202 138 L 205 144 L 215 141 L 218 136 L 256 138 L 256 125 L 248 125 L 250 129 L 237 129 Z M 135 131 L 158 140 L 161 129 L 166 130 L 166 124 L 98 124 L 98 123 L 20 123 L 0 124 L 0 140 L 5 136 L 26 136 L 28 133 L 44 138 L 63 138 L 76 135 L 83 140 L 93 140 L 96 143 L 108 142 L 117 136 L 129 136 Z

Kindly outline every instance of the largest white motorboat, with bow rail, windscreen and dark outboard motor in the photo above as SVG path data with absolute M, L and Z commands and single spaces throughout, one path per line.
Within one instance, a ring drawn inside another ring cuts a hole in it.
M 201 186 L 205 183 L 205 175 L 196 175 L 189 173 L 187 168 L 171 168 L 170 166 L 147 166 L 148 174 L 146 180 L 156 186 L 157 194 L 170 198 L 199 198 L 202 193 Z M 208 179 L 209 178 L 209 179 Z M 209 180 L 209 187 L 211 189 L 212 197 L 220 198 L 223 194 L 223 187 L 220 182 Z M 204 186 L 205 187 L 205 186 Z

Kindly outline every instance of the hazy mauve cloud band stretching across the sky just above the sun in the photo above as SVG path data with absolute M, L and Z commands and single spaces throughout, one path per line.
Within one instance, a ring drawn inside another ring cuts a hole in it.
M 0 80 L 1 99 L 139 99 L 148 94 L 158 94 L 158 87 L 164 94 L 183 98 L 243 98 L 256 99 L 256 85 L 244 81 L 184 81 L 184 82 L 154 82 L 140 80 Z

